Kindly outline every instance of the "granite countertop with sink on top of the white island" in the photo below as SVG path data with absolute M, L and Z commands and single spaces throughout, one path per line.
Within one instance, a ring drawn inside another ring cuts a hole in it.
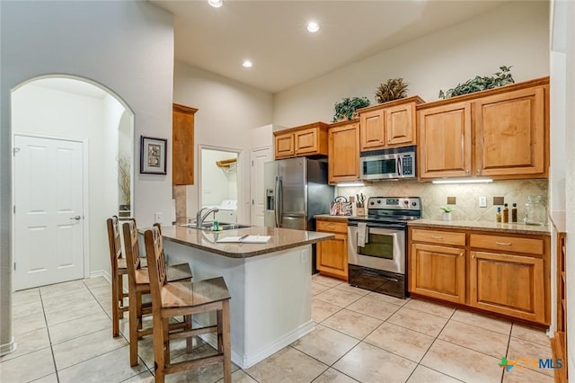
M 139 230 L 143 232 L 142 230 Z M 218 238 L 226 236 L 271 236 L 266 244 L 222 243 Z M 280 227 L 245 227 L 236 230 L 206 231 L 197 228 L 170 226 L 162 227 L 164 241 L 195 247 L 208 253 L 220 254 L 230 258 L 249 258 L 270 254 L 302 245 L 311 245 L 335 236 L 329 233 L 294 230 Z

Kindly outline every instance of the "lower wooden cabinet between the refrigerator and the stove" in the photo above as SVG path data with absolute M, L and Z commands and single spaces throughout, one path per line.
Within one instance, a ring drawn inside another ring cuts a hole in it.
M 317 243 L 315 267 L 318 272 L 348 281 L 348 220 L 317 218 L 315 230 L 335 235 L 334 239 Z

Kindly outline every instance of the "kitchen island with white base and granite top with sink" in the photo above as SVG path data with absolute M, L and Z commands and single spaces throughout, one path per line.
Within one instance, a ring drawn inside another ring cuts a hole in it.
M 193 280 L 223 276 L 232 299 L 232 361 L 243 369 L 314 329 L 312 244 L 333 235 L 278 227 L 211 232 L 162 227 L 170 263 L 190 263 Z M 265 244 L 217 243 L 226 236 L 270 236 Z M 213 317 L 194 316 L 201 325 Z M 207 338 L 212 345 L 216 337 Z

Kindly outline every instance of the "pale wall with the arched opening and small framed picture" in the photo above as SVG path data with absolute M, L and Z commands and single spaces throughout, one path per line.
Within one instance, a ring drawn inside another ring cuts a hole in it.
M 171 138 L 173 17 L 146 2 L 3 1 L 0 33 L 0 345 L 4 345 L 12 339 L 11 89 L 47 74 L 89 78 L 118 94 L 134 111 L 136 138 Z M 155 211 L 171 209 L 170 166 L 165 176 L 137 175 L 138 224 L 150 225 Z

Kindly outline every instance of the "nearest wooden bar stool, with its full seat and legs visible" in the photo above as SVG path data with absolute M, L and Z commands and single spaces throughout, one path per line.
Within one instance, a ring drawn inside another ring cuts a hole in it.
M 223 363 L 224 381 L 231 383 L 230 294 L 226 281 L 222 277 L 197 282 L 167 281 L 164 244 L 160 231 L 156 227 L 146 230 L 144 238 L 154 316 L 155 381 L 164 383 L 166 374 Z M 212 311 L 217 312 L 217 325 L 169 334 L 168 321 L 171 317 Z M 170 361 L 170 339 L 190 338 L 208 333 L 217 333 L 217 355 L 178 363 Z

